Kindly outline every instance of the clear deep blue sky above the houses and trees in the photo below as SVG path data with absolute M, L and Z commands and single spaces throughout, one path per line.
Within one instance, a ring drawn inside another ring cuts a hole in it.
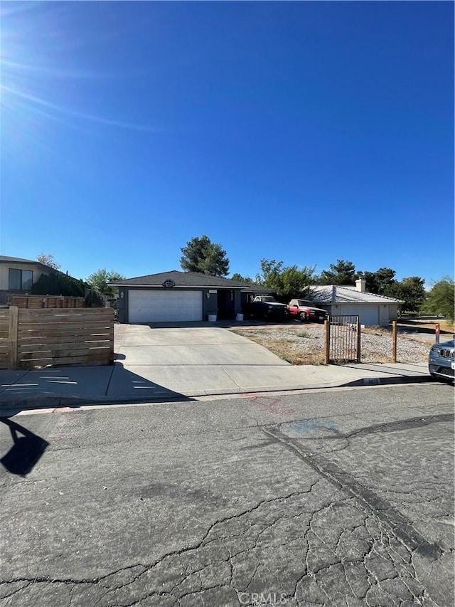
M 454 274 L 454 4 L 4 2 L 0 253 Z

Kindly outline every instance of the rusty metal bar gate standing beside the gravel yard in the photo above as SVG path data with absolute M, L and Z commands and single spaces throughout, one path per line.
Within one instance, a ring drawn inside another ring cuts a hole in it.
M 358 316 L 331 316 L 326 323 L 326 362 L 360 362 Z

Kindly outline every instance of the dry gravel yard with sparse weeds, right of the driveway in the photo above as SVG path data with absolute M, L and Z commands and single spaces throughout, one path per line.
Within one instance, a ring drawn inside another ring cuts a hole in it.
M 233 327 L 232 332 L 252 339 L 291 364 L 324 364 L 325 344 L 323 324 L 257 324 Z M 397 336 L 397 361 L 426 363 L 434 339 L 428 340 Z M 392 332 L 380 327 L 362 329 L 360 338 L 361 361 L 368 363 L 392 360 Z

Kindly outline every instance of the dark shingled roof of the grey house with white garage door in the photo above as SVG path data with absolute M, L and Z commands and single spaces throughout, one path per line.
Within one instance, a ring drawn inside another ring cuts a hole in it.
M 252 283 L 240 283 L 237 280 L 229 280 L 229 278 L 220 276 L 210 276 L 198 272 L 179 272 L 178 270 L 117 280 L 115 283 L 109 283 L 109 285 L 112 287 L 162 287 L 165 280 L 173 280 L 176 287 L 240 289 L 261 293 L 274 292 L 273 289 L 259 287 L 259 285 Z

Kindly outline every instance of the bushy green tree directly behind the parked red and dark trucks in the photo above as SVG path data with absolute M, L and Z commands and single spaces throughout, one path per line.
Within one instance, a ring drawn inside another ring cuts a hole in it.
M 256 283 L 269 287 L 277 293 L 280 300 L 288 302 L 292 297 L 305 297 L 309 285 L 313 282 L 314 267 L 303 266 L 299 270 L 296 265 L 284 268 L 284 262 L 277 260 L 261 260 L 261 273 L 256 276 Z

